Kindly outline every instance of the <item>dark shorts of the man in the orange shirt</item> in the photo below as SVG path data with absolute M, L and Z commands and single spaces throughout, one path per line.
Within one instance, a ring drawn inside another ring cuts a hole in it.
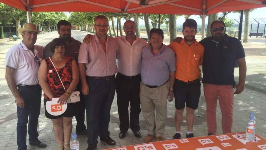
M 200 80 L 187 84 L 180 80 L 174 82 L 174 97 L 176 109 L 187 107 L 197 109 L 200 99 Z

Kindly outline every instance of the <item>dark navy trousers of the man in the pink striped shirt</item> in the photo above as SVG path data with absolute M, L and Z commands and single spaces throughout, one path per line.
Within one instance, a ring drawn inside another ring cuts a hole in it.
M 109 122 L 112 102 L 115 96 L 115 77 L 110 80 L 86 78 L 89 95 L 86 95 L 88 145 L 96 145 L 97 138 L 109 136 Z

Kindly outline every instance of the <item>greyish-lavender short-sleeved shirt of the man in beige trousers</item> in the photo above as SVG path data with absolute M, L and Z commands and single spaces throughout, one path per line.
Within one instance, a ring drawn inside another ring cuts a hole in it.
M 151 47 L 145 46 L 141 57 L 141 80 L 145 85 L 160 86 L 169 79 L 169 73 L 176 70 L 175 53 L 164 44 L 156 55 L 153 55 Z

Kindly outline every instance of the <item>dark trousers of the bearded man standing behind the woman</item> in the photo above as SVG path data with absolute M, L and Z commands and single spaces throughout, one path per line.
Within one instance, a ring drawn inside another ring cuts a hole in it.
M 78 105 L 78 111 L 75 116 L 77 125 L 76 125 L 76 133 L 82 132 L 83 130 L 86 129 L 86 126 L 84 124 L 85 121 L 85 95 L 82 94 L 81 92 L 81 83 L 79 82 L 77 85 L 77 90 L 80 92 L 79 97 L 80 97 L 80 102 L 77 103 Z

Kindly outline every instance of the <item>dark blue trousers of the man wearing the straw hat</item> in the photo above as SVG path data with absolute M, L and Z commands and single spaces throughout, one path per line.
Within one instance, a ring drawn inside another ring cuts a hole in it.
M 26 150 L 27 123 L 29 141 L 34 142 L 38 139 L 38 118 L 41 108 L 41 86 L 34 87 L 17 86 L 18 92 L 24 100 L 24 108 L 17 106 L 17 144 L 18 150 Z M 29 118 L 29 119 L 28 119 Z

